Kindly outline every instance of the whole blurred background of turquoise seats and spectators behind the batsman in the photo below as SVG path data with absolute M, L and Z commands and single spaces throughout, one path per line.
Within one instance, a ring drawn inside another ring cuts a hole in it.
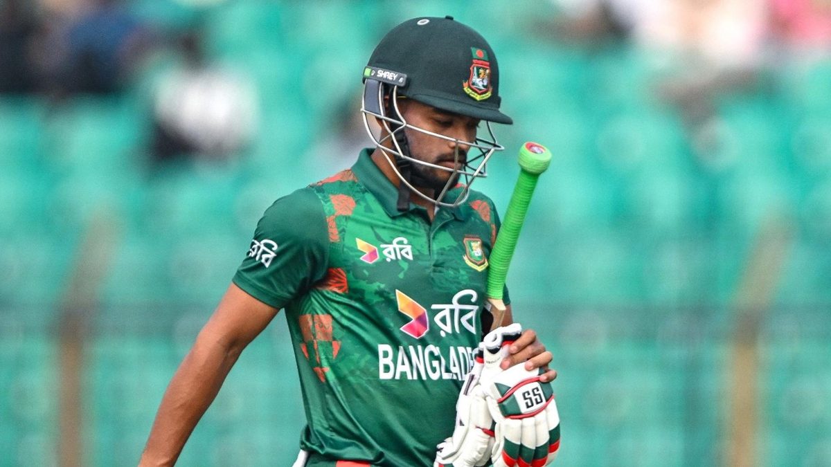
M 0 0 L 0 465 L 135 465 L 274 199 L 368 145 L 409 17 L 494 47 L 555 154 L 509 275 L 563 466 L 831 465 L 829 0 Z M 179 465 L 290 465 L 283 315 Z

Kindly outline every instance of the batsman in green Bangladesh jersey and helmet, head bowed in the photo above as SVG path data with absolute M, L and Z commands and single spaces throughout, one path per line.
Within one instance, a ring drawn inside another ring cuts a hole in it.
M 487 85 L 473 82 L 479 68 Z M 450 17 L 416 18 L 381 40 L 364 81 L 376 148 L 266 211 L 170 382 L 142 465 L 175 462 L 240 352 L 283 307 L 307 412 L 296 465 L 433 465 L 435 446 L 454 433 L 457 396 L 489 328 L 480 320 L 499 220 L 470 182 L 502 149 L 477 139 L 480 122 L 492 140 L 491 121 L 511 123 L 499 111 L 496 57 Z M 556 376 L 533 331 L 504 342 L 502 369 Z

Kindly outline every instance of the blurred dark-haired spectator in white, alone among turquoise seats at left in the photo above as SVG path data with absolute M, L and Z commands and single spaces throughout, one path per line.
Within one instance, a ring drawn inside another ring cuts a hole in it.
M 198 32 L 184 35 L 181 51 L 184 63 L 155 90 L 153 159 L 228 159 L 255 133 L 254 86 L 238 71 L 207 61 Z

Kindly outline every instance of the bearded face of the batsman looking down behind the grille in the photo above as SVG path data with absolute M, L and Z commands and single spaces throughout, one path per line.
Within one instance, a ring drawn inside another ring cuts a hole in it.
M 402 99 L 399 101 L 399 110 L 406 122 L 418 128 L 445 135 L 460 141 L 475 141 L 479 119 L 461 116 L 446 111 L 440 111 L 417 101 Z M 443 140 L 435 136 L 426 135 L 420 131 L 406 129 L 407 140 L 410 144 L 410 154 L 413 159 L 441 165 L 450 170 L 463 170 L 467 162 L 470 145 Z M 456 151 L 458 150 L 458 157 Z M 412 181 L 419 188 L 433 189 L 439 192 L 447 181 L 459 175 L 450 170 L 441 170 L 427 165 L 414 164 L 412 166 Z

